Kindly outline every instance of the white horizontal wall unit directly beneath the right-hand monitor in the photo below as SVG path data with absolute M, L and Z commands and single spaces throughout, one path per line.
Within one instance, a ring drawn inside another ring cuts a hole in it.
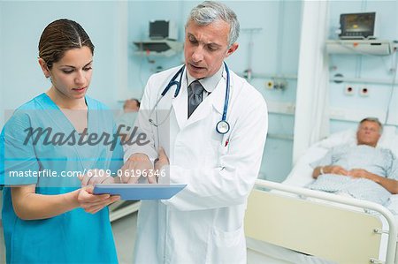
M 391 41 L 377 40 L 329 40 L 326 51 L 330 54 L 390 55 Z

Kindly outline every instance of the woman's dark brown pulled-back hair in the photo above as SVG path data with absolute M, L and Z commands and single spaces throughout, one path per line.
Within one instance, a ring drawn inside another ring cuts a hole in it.
M 79 23 L 69 19 L 57 19 L 46 26 L 39 41 L 39 57 L 49 67 L 64 57 L 69 49 L 88 47 L 94 55 L 94 45 Z

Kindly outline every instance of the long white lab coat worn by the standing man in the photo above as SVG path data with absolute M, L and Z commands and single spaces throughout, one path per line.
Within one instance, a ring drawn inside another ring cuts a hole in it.
M 159 102 L 158 122 L 172 105 L 170 120 L 158 129 L 149 124 L 153 109 L 178 67 L 149 78 L 136 125 L 151 144 L 127 147 L 125 158 L 141 152 L 151 158 L 157 147 L 170 160 L 172 184 L 187 187 L 170 200 L 143 200 L 138 215 L 135 263 L 245 263 L 243 218 L 246 201 L 257 177 L 268 129 L 263 96 L 230 71 L 231 94 L 226 135 L 216 132 L 221 120 L 226 78 L 188 119 L 187 80 L 172 99 L 175 87 Z M 185 74 L 185 72 L 184 72 Z M 224 71 L 223 76 L 226 76 Z M 226 144 L 226 141 L 228 143 Z

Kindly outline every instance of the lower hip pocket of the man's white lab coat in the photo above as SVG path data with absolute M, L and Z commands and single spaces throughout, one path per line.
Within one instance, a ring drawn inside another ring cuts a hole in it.
M 213 228 L 209 241 L 208 258 L 214 263 L 245 263 L 246 242 L 243 226 L 224 231 Z M 208 259 L 208 260 L 209 260 Z

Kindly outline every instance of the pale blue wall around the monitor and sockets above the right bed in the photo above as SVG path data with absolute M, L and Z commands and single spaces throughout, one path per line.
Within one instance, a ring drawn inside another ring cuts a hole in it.
M 398 40 L 398 1 L 331 1 L 330 2 L 330 38 L 335 39 L 337 35 L 334 30 L 339 26 L 341 13 L 376 11 L 376 37 L 379 40 Z M 360 56 L 360 55 L 332 55 L 330 56 L 330 75 L 342 74 L 346 78 L 374 79 L 374 83 L 343 82 L 336 84 L 331 82 L 331 108 L 339 109 L 341 115 L 331 121 L 331 131 L 337 132 L 341 129 L 356 126 L 355 120 L 361 117 L 361 113 L 379 117 L 385 122 L 387 105 L 391 99 L 390 116 L 387 124 L 398 124 L 398 88 L 393 86 L 393 69 L 397 68 L 397 52 L 390 56 Z M 377 80 L 387 84 L 377 83 Z M 344 89 L 352 86 L 355 89 L 353 95 L 344 94 Z M 362 87 L 369 89 L 369 96 L 362 97 L 359 90 Z M 352 121 L 341 121 L 336 119 L 348 119 Z

